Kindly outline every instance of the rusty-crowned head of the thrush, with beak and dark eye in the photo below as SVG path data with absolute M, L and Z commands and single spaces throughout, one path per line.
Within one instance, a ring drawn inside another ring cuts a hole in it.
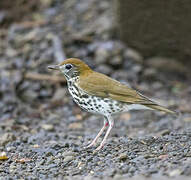
M 87 64 L 76 58 L 69 58 L 58 65 L 48 66 L 48 69 L 59 70 L 67 80 L 92 71 Z

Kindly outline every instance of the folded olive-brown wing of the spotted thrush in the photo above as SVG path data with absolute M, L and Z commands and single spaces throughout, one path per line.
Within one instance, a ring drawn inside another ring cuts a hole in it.
M 130 104 L 156 104 L 136 90 L 97 72 L 80 77 L 78 85 L 87 94 L 94 96 L 111 98 Z

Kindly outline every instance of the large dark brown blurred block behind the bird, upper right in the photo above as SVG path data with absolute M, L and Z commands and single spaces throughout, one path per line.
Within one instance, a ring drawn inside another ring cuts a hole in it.
M 191 57 L 190 0 L 114 0 L 120 37 L 145 57 Z

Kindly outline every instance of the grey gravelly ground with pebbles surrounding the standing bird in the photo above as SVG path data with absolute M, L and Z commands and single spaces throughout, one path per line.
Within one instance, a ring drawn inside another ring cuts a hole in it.
M 191 85 L 185 67 L 159 57 L 145 62 L 123 45 L 109 0 L 39 2 L 20 22 L 6 24 L 11 12 L 0 13 L 0 179 L 189 179 Z M 47 70 L 66 57 L 81 58 L 182 114 L 122 114 L 101 151 L 84 149 L 103 118 L 78 108 L 64 78 Z

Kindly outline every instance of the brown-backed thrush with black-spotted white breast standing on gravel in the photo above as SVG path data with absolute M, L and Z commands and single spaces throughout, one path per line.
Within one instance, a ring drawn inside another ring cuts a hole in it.
M 69 93 L 83 110 L 104 117 L 103 127 L 87 148 L 95 146 L 98 138 L 108 127 L 96 151 L 103 148 L 114 126 L 113 115 L 115 114 L 140 109 L 176 113 L 142 95 L 137 90 L 107 75 L 93 71 L 80 59 L 69 58 L 58 65 L 48 66 L 48 69 L 58 70 L 65 76 Z

